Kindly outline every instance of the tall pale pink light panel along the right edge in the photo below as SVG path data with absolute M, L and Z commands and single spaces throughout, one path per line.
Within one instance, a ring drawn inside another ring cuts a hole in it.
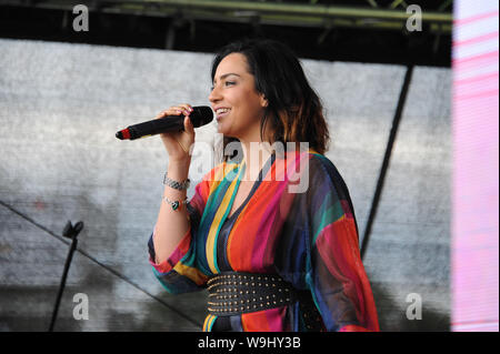
M 499 331 L 498 8 L 454 2 L 452 331 Z

